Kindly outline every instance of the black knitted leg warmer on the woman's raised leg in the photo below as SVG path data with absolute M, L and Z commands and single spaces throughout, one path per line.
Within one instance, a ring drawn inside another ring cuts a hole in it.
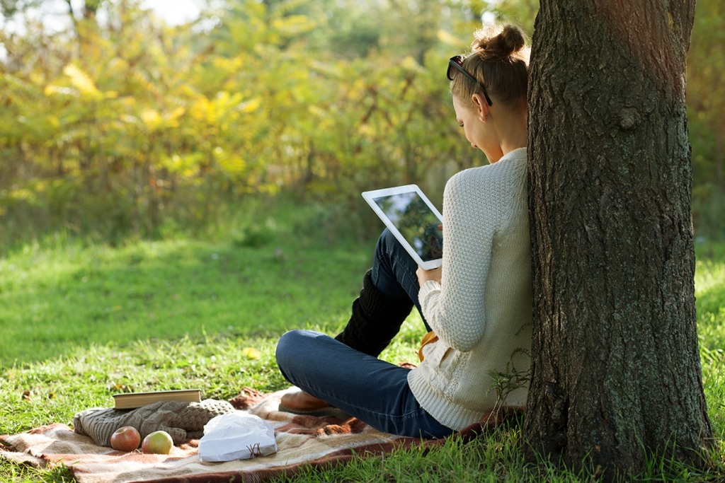
M 366 353 L 378 356 L 400 330 L 405 317 L 413 308 L 410 298 L 390 298 L 373 285 L 368 270 L 363 278 L 360 297 L 352 302 L 352 316 L 347 327 L 335 339 Z

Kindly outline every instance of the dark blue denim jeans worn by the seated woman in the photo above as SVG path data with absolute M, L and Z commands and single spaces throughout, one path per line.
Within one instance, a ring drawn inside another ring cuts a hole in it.
M 385 230 L 373 259 L 372 279 L 378 290 L 392 298 L 409 297 L 420 310 L 416 269 L 415 261 Z M 407 384 L 410 369 L 367 356 L 328 335 L 287 332 L 277 345 L 277 365 L 292 384 L 379 431 L 425 438 L 454 432 L 418 404 Z

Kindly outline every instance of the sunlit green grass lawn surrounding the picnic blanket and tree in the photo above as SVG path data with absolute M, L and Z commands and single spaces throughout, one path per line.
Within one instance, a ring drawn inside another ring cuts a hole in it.
M 111 395 L 123 390 L 199 387 L 204 398 L 228 399 L 245 385 L 286 387 L 274 361 L 277 337 L 299 327 L 339 330 L 374 240 L 335 240 L 324 235 L 324 219 L 299 210 L 259 210 L 257 218 L 232 223 L 212 241 L 176 236 L 111 248 L 60 240 L 0 259 L 0 434 L 69 424 L 77 411 L 111 406 Z M 725 478 L 725 245 L 700 243 L 697 255 L 698 332 L 719 469 L 697 474 L 657 460 L 642 480 Z M 414 361 L 423 332 L 411 315 L 382 357 Z M 249 347 L 260 357 L 244 356 Z M 531 474 L 521 449 L 521 425 L 512 424 L 468 445 L 451 441 L 430 453 L 413 449 L 296 481 L 591 479 L 548 464 Z M 0 461 L 0 481 L 69 480 L 67 469 Z

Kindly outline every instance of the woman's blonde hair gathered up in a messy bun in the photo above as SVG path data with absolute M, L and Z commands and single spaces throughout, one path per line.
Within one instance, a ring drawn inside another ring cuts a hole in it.
M 476 30 L 471 54 L 465 57 L 461 67 L 486 88 L 492 102 L 495 98 L 512 108 L 526 106 L 529 47 L 526 34 L 517 25 L 495 25 Z M 473 94 L 482 94 L 481 86 L 465 75 L 454 73 L 452 77 L 451 93 L 457 98 L 470 102 Z

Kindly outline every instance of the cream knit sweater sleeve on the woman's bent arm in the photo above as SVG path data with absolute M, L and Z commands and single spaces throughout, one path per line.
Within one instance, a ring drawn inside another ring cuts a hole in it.
M 462 352 L 475 347 L 486 329 L 486 280 L 505 206 L 495 180 L 500 170 L 489 168 L 494 166 L 468 169 L 447 182 L 441 283 L 426 282 L 418 295 L 431 329 Z

